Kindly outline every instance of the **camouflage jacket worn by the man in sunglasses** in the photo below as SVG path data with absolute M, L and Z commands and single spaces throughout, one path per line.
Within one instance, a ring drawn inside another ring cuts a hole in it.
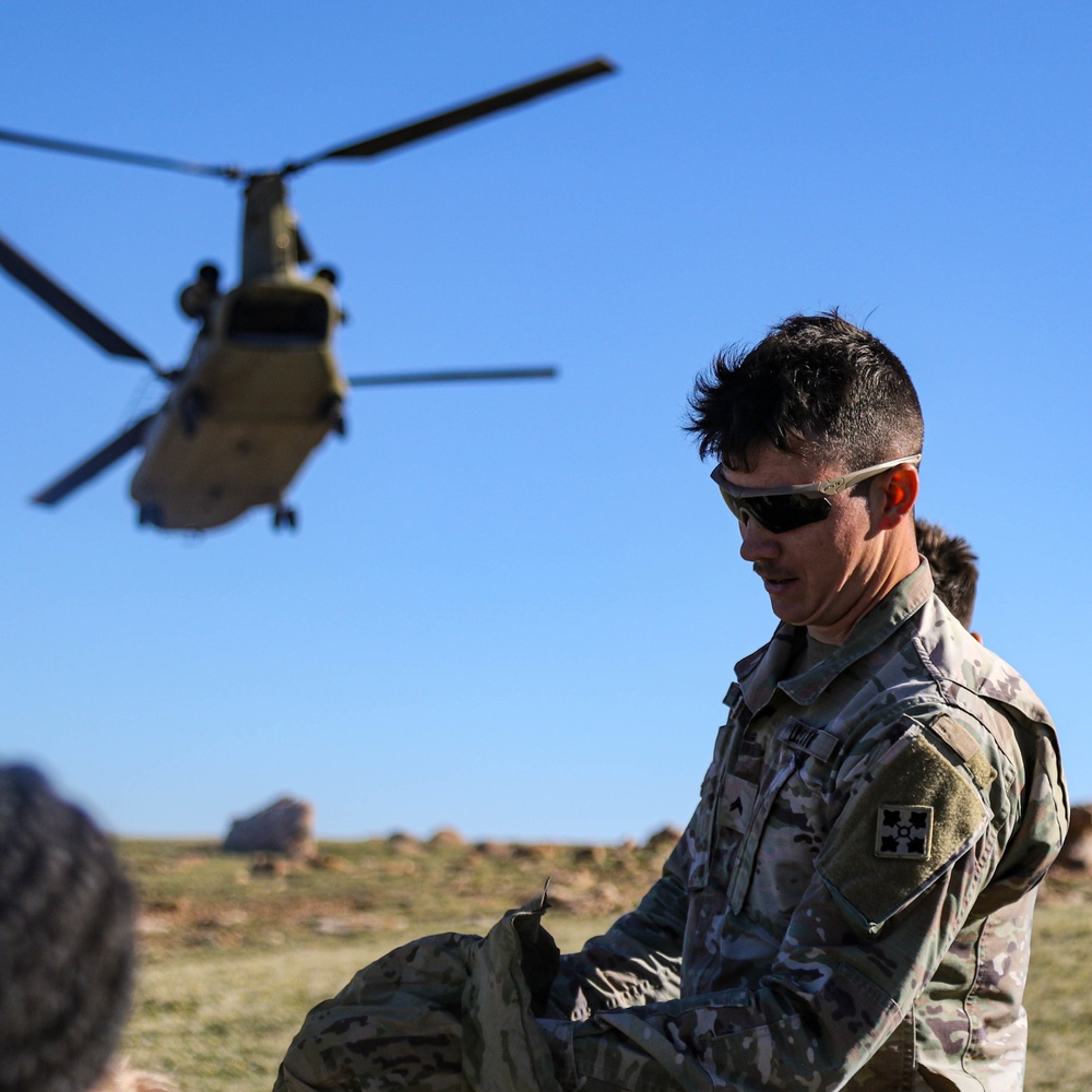
M 922 567 L 795 676 L 736 667 L 701 800 L 539 1021 L 566 1089 L 1018 1090 L 1035 886 L 1068 802 L 1049 717 Z

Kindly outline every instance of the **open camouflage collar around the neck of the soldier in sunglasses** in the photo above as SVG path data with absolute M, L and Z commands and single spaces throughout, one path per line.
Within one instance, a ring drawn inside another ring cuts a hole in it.
M 736 664 L 736 678 L 748 709 L 757 713 L 779 688 L 797 704 L 810 704 L 851 664 L 879 648 L 907 618 L 921 610 L 931 595 L 933 572 L 923 559 L 854 626 L 845 644 L 810 670 L 787 678 L 793 661 L 804 648 L 807 632 L 800 626 L 781 622 L 769 644 Z

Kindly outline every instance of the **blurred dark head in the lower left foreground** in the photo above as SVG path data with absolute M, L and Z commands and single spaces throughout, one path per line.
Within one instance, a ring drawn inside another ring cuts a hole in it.
M 129 1014 L 133 895 L 106 835 L 0 767 L 0 1092 L 82 1092 Z

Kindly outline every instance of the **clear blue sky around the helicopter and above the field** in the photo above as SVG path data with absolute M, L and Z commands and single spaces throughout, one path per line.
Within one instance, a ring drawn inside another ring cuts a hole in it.
M 250 168 L 620 73 L 296 181 L 346 371 L 562 368 L 356 392 L 296 535 L 138 530 L 134 460 L 27 503 L 162 392 L 0 280 L 0 755 L 128 834 L 282 793 L 323 835 L 681 826 L 773 626 L 686 396 L 722 345 L 836 305 L 914 377 L 918 511 L 978 550 L 977 628 L 1089 799 L 1090 32 L 1072 3 L 9 0 L 0 128 Z M 178 288 L 237 273 L 225 182 L 0 146 L 0 209 L 168 365 Z

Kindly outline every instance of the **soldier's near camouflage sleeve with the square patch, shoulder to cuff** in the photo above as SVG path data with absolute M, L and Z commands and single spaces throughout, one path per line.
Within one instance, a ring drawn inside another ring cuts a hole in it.
M 559 1082 L 835 1089 L 894 1031 L 997 858 L 974 782 L 919 727 L 856 776 L 768 972 L 580 1023 L 545 1021 Z

